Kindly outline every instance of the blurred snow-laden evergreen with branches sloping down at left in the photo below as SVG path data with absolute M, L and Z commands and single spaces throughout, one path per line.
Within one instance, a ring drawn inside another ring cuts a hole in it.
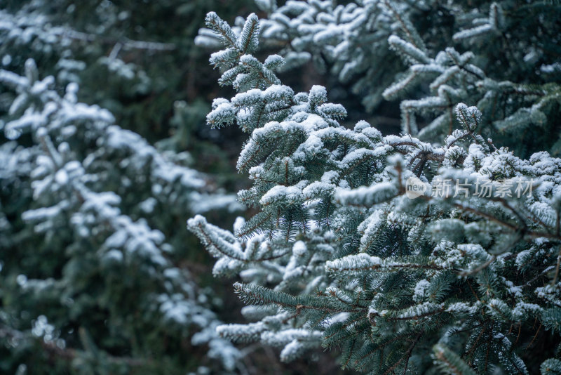
M 181 154 L 158 152 L 107 110 L 78 103 L 76 84 L 59 96 L 33 60 L 24 77 L 0 70 L 0 81 L 18 93 L 4 124 L 17 140 L 0 147 L 4 370 L 154 374 L 160 361 L 194 365 L 175 346 L 207 343 L 234 369 L 240 354 L 215 334 L 212 294 L 178 268 L 166 243 L 174 238 L 160 228 L 198 211 L 201 195 L 229 197 L 205 192 Z

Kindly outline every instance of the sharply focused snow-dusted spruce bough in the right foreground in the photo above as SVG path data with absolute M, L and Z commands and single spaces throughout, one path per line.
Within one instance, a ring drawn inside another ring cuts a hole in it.
M 439 143 L 366 121 L 346 129 L 325 88 L 295 93 L 276 74 L 284 58 L 252 55 L 255 14 L 239 29 L 206 20 L 225 45 L 210 58 L 219 83 L 238 92 L 214 101 L 208 124 L 250 134 L 237 167 L 254 183 L 238 199 L 259 209 L 234 233 L 203 216 L 187 223 L 217 258 L 214 274 L 242 279 L 234 289 L 253 322 L 219 326 L 221 336 L 282 348 L 284 361 L 340 347 L 342 367 L 371 374 L 560 373 L 561 159 L 521 159 L 483 138 L 485 113 L 451 96 Z M 388 43 L 435 65 L 403 39 Z M 469 55 L 446 53 L 481 76 L 473 84 L 489 83 Z M 442 96 L 453 90 L 444 82 Z M 411 180 L 425 188 L 416 199 Z M 443 181 L 450 190 L 435 194 Z

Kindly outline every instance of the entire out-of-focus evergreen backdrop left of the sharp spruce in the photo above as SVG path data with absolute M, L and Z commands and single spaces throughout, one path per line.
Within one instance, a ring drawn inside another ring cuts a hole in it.
M 159 95 L 182 89 L 168 86 L 176 71 L 154 70 L 184 45 L 129 39 L 130 4 L 74 3 L 0 9 L 0 373 L 237 371 L 241 353 L 215 333 L 223 303 L 197 284 L 201 256 L 175 229 L 240 209 L 224 178 L 192 169 L 203 147 L 184 152 L 205 106 L 177 102 L 172 117 Z

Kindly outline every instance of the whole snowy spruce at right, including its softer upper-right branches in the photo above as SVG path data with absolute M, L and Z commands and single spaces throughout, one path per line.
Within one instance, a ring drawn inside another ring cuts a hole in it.
M 552 130 L 558 118 L 559 75 L 545 73 L 559 64 L 560 7 L 507 1 L 487 6 L 482 18 L 485 1 L 474 9 L 452 1 L 438 8 L 432 1 L 258 4 L 270 13 L 262 24 L 255 14 L 236 27 L 216 13 L 206 18 L 225 46 L 210 58 L 219 84 L 237 91 L 215 99 L 207 121 L 235 123 L 250 135 L 237 167 L 253 186 L 238 199 L 258 209 L 238 219 L 234 232 L 203 216 L 187 223 L 217 258 L 214 275 L 242 279 L 234 289 L 254 322 L 219 326 L 219 334 L 278 346 L 284 361 L 341 347 L 342 367 L 371 374 L 559 373 L 561 159 L 546 151 L 526 156 L 551 143 L 525 147 L 543 131 L 535 124 Z M 433 20 L 416 31 L 410 19 L 422 11 L 436 18 L 453 11 L 461 25 L 473 20 L 474 28 L 447 27 L 478 49 L 447 46 L 436 34 L 446 25 Z M 527 22 L 541 25 L 525 35 L 517 27 L 527 25 L 520 15 L 528 12 L 539 17 Z M 386 44 L 411 67 L 384 95 L 398 96 L 417 79 L 429 79 L 431 91 L 401 102 L 398 136 L 383 136 L 367 121 L 348 129 L 340 122 L 346 110 L 329 103 L 325 88 L 295 93 L 282 84 L 278 72 L 295 53 L 254 57 L 260 31 L 266 41 L 280 35 L 312 55 L 334 44 L 339 49 L 323 51 L 337 60 L 336 72 L 353 69 L 346 61 L 356 72 L 379 69 L 393 79 L 394 70 L 383 68 L 392 63 Z M 496 35 L 524 36 L 528 44 L 517 40 L 493 71 L 493 47 L 479 48 L 478 38 Z M 198 42 L 214 40 L 203 30 Z M 355 53 L 357 44 L 364 51 Z M 534 58 L 520 58 L 528 45 Z M 419 129 L 414 116 L 425 111 L 438 117 Z M 516 152 L 503 146 L 508 137 Z

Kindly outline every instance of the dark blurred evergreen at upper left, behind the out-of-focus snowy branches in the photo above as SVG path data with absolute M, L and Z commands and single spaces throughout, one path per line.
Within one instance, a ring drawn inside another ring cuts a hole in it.
M 6 0 L 0 56 L 6 70 L 23 74 L 25 61 L 34 58 L 61 85 L 78 82 L 79 100 L 107 108 L 124 129 L 156 143 L 179 126 L 170 124 L 174 102 L 200 108 L 203 118 L 208 112 L 196 99 L 208 96 L 214 82 L 205 74 L 211 70 L 206 54 L 193 41 L 205 13 L 232 14 L 247 2 Z M 202 138 L 200 132 L 191 129 L 191 136 Z M 187 139 L 180 145 L 193 147 Z M 216 154 L 217 147 L 208 152 Z

